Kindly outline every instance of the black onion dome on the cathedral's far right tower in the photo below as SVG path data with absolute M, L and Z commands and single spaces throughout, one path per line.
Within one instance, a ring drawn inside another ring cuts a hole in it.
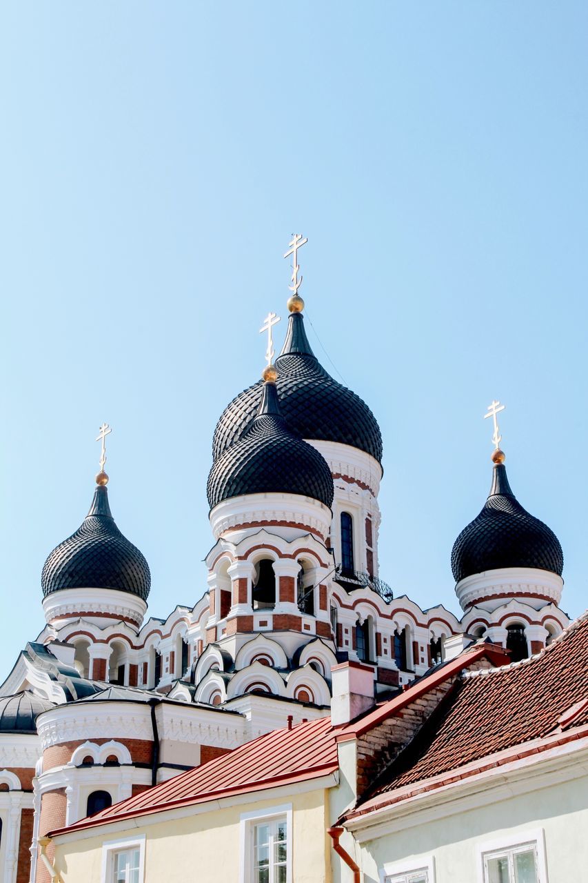
M 563 553 L 554 532 L 516 501 L 506 467 L 497 462 L 484 509 L 454 543 L 451 570 L 459 583 L 474 573 L 502 567 L 533 567 L 561 577 Z

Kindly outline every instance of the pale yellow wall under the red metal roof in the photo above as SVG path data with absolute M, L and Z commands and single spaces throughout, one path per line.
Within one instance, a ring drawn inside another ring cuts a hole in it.
M 57 838 L 55 867 L 64 883 L 102 883 L 102 843 L 145 834 L 145 883 L 237 883 L 240 875 L 240 817 L 284 804 L 292 805 L 293 883 L 328 883 L 330 870 L 326 805 L 320 789 L 283 795 L 259 803 L 170 819 L 126 830 L 90 832 L 85 840 Z M 111 826 L 110 826 L 111 827 Z

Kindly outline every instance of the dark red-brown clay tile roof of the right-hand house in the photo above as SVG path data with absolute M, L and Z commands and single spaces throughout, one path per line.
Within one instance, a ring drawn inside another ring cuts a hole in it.
M 347 818 L 395 791 L 588 721 L 588 611 L 539 655 L 466 673 Z

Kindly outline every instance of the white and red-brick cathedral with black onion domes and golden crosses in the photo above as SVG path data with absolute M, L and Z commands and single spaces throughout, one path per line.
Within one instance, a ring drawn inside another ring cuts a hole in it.
M 5 883 L 49 879 L 38 849 L 47 832 L 271 730 L 328 716 L 331 669 L 345 660 L 369 668 L 379 701 L 469 645 L 523 660 L 569 624 L 562 547 L 509 485 L 497 402 L 487 415 L 490 491 L 451 552 L 460 614 L 441 603 L 423 610 L 381 577 L 381 431 L 308 342 L 304 242 L 290 243 L 282 350 L 274 358 L 270 313 L 268 365 L 215 428 L 212 547 L 192 607 L 147 615 L 149 566 L 111 512 L 101 428 L 87 516 L 49 553 L 45 624 L 0 689 Z

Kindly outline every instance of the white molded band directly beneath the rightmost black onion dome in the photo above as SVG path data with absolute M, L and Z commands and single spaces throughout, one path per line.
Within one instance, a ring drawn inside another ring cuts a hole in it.
M 486 570 L 484 573 L 474 573 L 471 577 L 465 577 L 456 585 L 457 600 L 463 610 L 467 610 L 472 604 L 488 611 L 499 607 L 504 598 L 494 600 L 485 599 L 492 595 L 524 595 L 524 601 L 531 607 L 538 608 L 537 601 L 526 596 L 539 596 L 539 608 L 545 605 L 545 599 L 553 601 L 555 605 L 562 599 L 563 580 L 550 570 L 539 570 L 533 567 L 501 567 L 496 570 Z

